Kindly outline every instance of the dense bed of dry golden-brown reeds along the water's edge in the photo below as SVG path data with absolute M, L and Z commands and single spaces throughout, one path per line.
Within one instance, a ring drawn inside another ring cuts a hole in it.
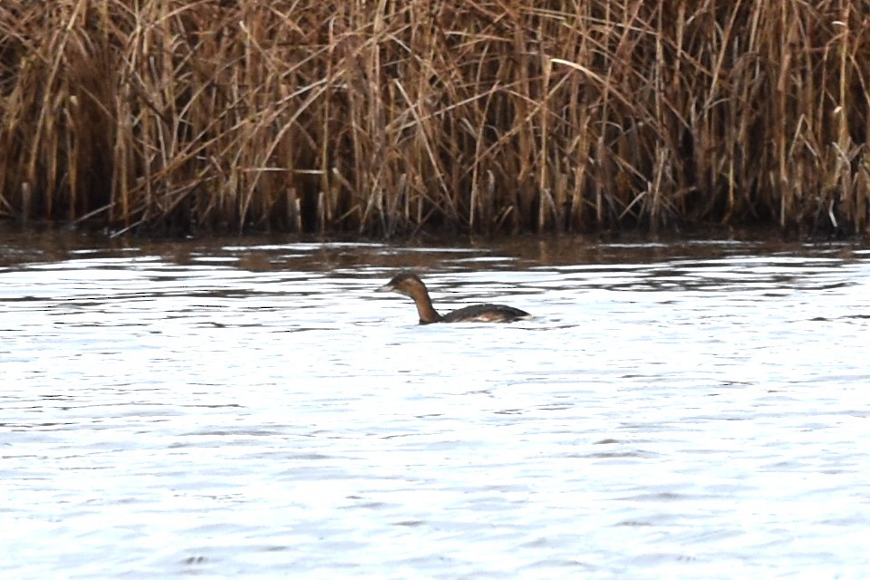
M 870 3 L 4 0 L 0 216 L 870 233 Z

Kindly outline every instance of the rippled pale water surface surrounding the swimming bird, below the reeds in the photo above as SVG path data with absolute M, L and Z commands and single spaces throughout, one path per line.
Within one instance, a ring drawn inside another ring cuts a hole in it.
M 866 248 L 12 239 L 4 578 L 870 573 Z

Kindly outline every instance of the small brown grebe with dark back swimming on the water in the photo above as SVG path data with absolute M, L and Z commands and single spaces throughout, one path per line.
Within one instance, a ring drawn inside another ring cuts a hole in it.
M 527 312 L 505 306 L 503 304 L 475 304 L 459 308 L 451 313 L 438 314 L 432 306 L 429 291 L 423 281 L 412 272 L 402 272 L 390 282 L 378 288 L 378 292 L 397 292 L 411 297 L 417 304 L 417 314 L 420 314 L 420 324 L 432 323 L 505 323 L 525 316 Z

